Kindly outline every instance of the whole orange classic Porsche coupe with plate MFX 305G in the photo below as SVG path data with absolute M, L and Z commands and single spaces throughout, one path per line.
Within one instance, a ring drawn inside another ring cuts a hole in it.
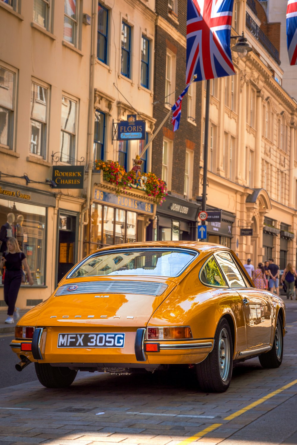
M 78 263 L 16 325 L 16 369 L 34 362 L 48 388 L 77 371 L 130 374 L 195 368 L 199 388 L 223 392 L 232 365 L 283 356 L 285 305 L 255 289 L 228 248 L 197 242 L 104 247 Z

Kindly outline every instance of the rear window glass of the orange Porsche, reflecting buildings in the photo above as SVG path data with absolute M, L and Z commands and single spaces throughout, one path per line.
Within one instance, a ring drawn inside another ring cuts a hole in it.
M 158 275 L 175 277 L 198 252 L 173 249 L 129 249 L 93 254 L 67 278 L 100 275 Z

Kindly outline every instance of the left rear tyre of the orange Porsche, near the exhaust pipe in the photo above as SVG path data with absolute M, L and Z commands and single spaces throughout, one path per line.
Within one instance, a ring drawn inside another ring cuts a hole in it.
M 35 363 L 35 371 L 38 380 L 46 388 L 67 388 L 77 375 L 77 371 L 51 366 L 49 363 Z

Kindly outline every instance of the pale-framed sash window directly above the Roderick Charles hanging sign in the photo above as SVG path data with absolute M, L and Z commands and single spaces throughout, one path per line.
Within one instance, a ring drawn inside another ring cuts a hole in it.
M 61 162 L 71 164 L 75 157 L 77 102 L 62 96 Z

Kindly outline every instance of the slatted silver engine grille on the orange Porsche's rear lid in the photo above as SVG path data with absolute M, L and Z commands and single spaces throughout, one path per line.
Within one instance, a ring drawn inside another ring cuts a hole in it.
M 71 289 L 77 287 L 77 289 Z M 167 284 L 151 283 L 149 281 L 89 281 L 83 283 L 67 283 L 59 287 L 56 297 L 71 294 L 142 294 L 162 295 L 167 289 Z

